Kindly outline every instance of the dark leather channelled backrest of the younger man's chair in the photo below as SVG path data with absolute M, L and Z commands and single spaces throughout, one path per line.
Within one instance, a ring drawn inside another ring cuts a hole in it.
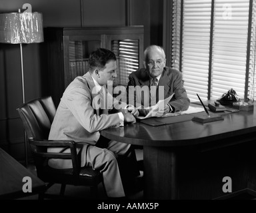
M 28 138 L 48 140 L 56 112 L 51 97 L 36 99 L 17 108 Z

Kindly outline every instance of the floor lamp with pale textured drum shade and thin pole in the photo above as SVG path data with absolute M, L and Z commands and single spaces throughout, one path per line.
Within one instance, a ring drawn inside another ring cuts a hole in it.
M 19 44 L 21 51 L 22 98 L 25 103 L 22 44 L 43 42 L 41 13 L 0 13 L 0 43 Z M 27 136 L 25 136 L 25 164 L 27 167 Z

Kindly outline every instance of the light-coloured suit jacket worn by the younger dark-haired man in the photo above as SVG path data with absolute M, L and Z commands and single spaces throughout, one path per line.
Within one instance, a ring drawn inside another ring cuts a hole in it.
M 49 133 L 49 140 L 85 142 L 81 150 L 81 166 L 85 166 L 88 144 L 95 145 L 99 140 L 99 130 L 120 125 L 117 113 L 101 114 L 100 109 L 95 109 L 97 107 L 93 99 L 98 94 L 93 94 L 94 87 L 95 83 L 90 73 L 77 77 L 70 83 L 57 107 Z M 107 91 L 105 86 L 104 88 Z M 112 104 L 115 107 L 119 103 L 114 101 Z M 77 151 L 80 151 L 80 148 Z M 48 152 L 61 152 L 61 149 L 48 148 Z M 70 152 L 70 150 L 67 149 L 64 152 Z M 71 160 L 51 159 L 49 165 L 54 168 L 72 168 Z

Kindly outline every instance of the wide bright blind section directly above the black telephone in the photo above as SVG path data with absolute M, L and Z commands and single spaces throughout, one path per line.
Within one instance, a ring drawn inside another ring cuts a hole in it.
M 249 0 L 215 0 L 211 99 L 245 94 Z

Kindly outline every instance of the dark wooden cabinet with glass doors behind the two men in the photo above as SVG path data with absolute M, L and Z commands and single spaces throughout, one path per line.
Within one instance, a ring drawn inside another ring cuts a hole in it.
M 88 71 L 89 54 L 106 48 L 117 56 L 114 85 L 127 85 L 129 73 L 143 67 L 143 26 L 129 27 L 46 27 L 51 96 L 57 107 L 65 88 Z

